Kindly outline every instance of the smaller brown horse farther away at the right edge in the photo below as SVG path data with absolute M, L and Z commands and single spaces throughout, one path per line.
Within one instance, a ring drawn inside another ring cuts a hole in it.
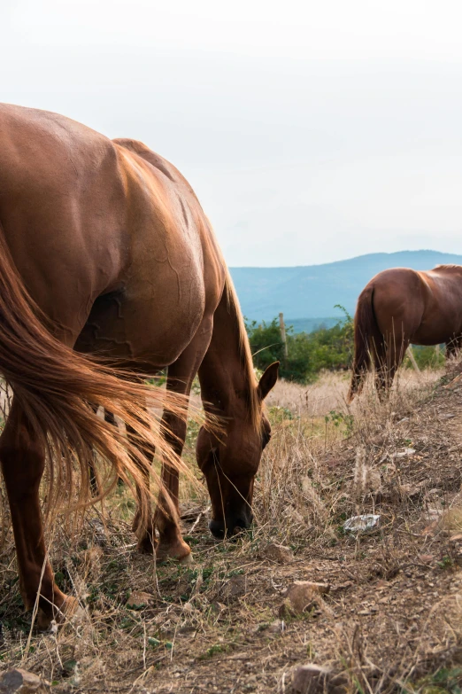
M 359 294 L 355 314 L 355 358 L 348 402 L 375 367 L 379 394 L 388 391 L 407 347 L 446 343 L 446 354 L 462 347 L 462 266 L 379 272 Z

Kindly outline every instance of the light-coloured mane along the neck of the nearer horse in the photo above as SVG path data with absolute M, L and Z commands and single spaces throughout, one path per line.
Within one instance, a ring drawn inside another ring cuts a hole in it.
M 229 314 L 235 318 L 235 328 L 237 330 L 237 338 L 239 340 L 239 356 L 247 386 L 247 406 L 249 409 L 249 417 L 254 428 L 259 430 L 262 425 L 262 419 L 261 402 L 258 397 L 258 382 L 253 369 L 252 353 L 250 351 L 249 336 L 245 329 L 245 323 L 243 320 L 243 312 L 241 311 L 241 306 L 235 292 L 235 285 L 228 269 L 225 279 L 225 292 L 227 298 L 227 310 Z

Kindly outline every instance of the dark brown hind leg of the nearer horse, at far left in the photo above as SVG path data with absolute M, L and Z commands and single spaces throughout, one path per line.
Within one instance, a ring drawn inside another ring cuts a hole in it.
M 35 441 L 27 419 L 14 400 L 4 433 L 0 437 L 0 463 L 12 514 L 14 542 L 19 565 L 19 589 L 27 610 L 35 606 L 37 624 L 46 628 L 73 612 L 75 598 L 58 589 L 43 540 L 39 487 L 45 465 L 43 443 Z

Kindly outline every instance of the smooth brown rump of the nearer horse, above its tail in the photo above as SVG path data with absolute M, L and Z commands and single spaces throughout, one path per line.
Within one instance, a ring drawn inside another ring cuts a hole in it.
M 0 223 L 28 291 L 57 322 L 80 323 L 128 261 L 111 140 L 56 113 L 0 105 L 0 190 Z

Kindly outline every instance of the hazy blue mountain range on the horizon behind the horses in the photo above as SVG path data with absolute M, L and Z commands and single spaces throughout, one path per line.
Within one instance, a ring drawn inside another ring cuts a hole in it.
M 432 269 L 435 265 L 462 265 L 462 255 L 437 251 L 368 253 L 347 261 L 295 268 L 231 268 L 243 315 L 271 321 L 280 312 L 296 331 L 332 325 L 343 316 L 335 304 L 354 313 L 358 294 L 381 270 Z M 323 317 L 327 316 L 327 317 Z

